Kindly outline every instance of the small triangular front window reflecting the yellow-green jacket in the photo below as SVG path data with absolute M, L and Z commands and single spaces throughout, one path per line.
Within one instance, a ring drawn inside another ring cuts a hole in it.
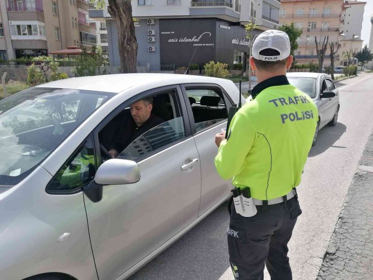
M 48 193 L 70 193 L 89 183 L 96 173 L 92 136 L 81 145 L 48 184 Z

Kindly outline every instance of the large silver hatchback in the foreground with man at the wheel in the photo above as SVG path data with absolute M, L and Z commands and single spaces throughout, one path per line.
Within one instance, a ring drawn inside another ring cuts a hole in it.
M 149 96 L 164 122 L 111 158 L 129 106 Z M 214 136 L 238 98 L 229 80 L 119 74 L 0 101 L 0 278 L 134 273 L 230 197 Z

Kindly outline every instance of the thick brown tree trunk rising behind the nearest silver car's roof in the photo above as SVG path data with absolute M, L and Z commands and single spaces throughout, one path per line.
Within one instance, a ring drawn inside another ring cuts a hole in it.
M 107 11 L 118 31 L 118 50 L 122 73 L 136 73 L 137 40 L 132 20 L 131 0 L 109 0 Z

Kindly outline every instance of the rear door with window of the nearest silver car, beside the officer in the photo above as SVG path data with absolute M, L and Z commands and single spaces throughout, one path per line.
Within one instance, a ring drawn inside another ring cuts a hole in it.
M 199 215 L 227 198 L 230 180 L 223 180 L 215 168 L 215 134 L 227 126 L 227 107 L 231 101 L 218 85 L 185 84 L 181 86 L 187 103 L 192 133 L 201 158 L 202 191 Z M 228 104 L 228 105 L 227 105 Z

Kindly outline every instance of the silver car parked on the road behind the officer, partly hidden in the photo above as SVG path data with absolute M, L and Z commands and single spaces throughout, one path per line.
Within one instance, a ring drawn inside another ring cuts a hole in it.
M 326 74 L 295 72 L 286 76 L 290 84 L 308 94 L 318 107 L 319 121 L 312 143 L 315 145 L 320 129 L 337 124 L 340 107 L 338 89 Z

